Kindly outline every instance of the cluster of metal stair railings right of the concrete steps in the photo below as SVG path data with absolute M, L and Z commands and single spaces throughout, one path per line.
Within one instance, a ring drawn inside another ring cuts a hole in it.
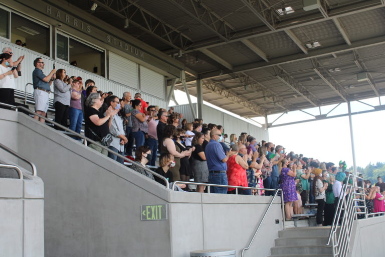
M 342 186 L 326 243 L 326 245 L 330 245 L 331 242 L 333 256 L 335 257 L 345 257 L 347 255 L 354 219 L 356 219 L 359 214 L 366 215 L 367 213 L 364 188 L 359 187 L 356 183 L 357 179 L 362 180 L 362 178 L 349 174 L 346 180 L 347 183 L 350 178 L 353 180 L 353 185 L 346 184 Z M 357 196 L 358 199 L 356 199 Z M 363 202 L 363 205 L 357 205 L 357 202 Z M 357 211 L 358 208 L 361 210 Z M 362 211 L 362 209 L 364 211 Z M 340 224 L 339 233 L 337 233 L 338 224 Z

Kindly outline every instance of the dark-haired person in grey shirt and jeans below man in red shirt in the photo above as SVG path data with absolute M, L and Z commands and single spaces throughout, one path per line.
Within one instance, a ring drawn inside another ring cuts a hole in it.
M 146 115 L 140 112 L 142 104 L 140 99 L 132 101 L 131 121 L 132 135 L 135 139 L 135 147 L 138 148 L 144 145 L 144 135 L 148 133 L 148 125 Z

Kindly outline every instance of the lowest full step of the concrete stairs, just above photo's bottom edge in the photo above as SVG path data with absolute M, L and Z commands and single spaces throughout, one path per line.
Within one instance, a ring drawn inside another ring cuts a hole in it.
M 304 256 L 306 254 L 332 254 L 332 248 L 319 245 L 303 245 L 303 246 L 274 246 L 271 248 L 271 254 L 297 254 L 298 256 Z

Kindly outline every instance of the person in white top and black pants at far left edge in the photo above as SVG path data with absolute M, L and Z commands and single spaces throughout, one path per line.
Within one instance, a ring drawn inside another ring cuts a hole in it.
M 7 67 L 11 61 L 10 54 L 0 55 L 0 102 L 15 105 L 15 79 L 18 73 Z

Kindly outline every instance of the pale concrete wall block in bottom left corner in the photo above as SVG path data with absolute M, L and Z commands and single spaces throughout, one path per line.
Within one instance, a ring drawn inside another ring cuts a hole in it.
M 15 164 L 3 153 L 1 159 Z M 10 178 L 13 172 L 0 172 L 0 256 L 44 257 L 43 181 L 24 169 L 24 180 Z

